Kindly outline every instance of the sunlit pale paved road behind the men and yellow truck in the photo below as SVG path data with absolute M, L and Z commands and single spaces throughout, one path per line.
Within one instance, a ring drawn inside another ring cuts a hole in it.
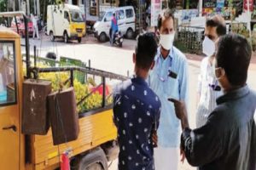
M 130 75 L 133 72 L 132 54 L 135 48 L 135 41 L 125 40 L 123 48 L 110 47 L 109 42 L 98 43 L 94 37 L 86 37 L 81 43 L 70 42 L 68 44 L 57 41 L 49 42 L 48 37 L 43 37 L 41 40 L 32 40 L 32 46 L 37 45 L 41 49 L 38 51 L 39 56 L 45 56 L 47 52 L 55 52 L 58 57 L 65 56 L 73 59 L 81 59 L 84 62 L 91 60 L 91 66 L 104 71 L 112 71 L 126 76 L 127 71 Z M 24 50 L 24 49 L 23 49 Z M 200 58 L 189 58 L 189 123 L 191 127 L 195 127 L 195 89 L 197 83 L 197 75 L 199 73 Z M 250 66 L 248 84 L 256 90 L 256 65 Z M 110 170 L 117 169 L 117 161 L 113 161 Z M 179 167 L 180 170 L 195 170 L 187 163 Z

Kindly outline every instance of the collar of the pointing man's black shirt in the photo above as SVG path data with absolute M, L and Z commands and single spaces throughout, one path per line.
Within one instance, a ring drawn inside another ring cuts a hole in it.
M 217 104 L 220 105 L 226 101 L 229 101 L 231 99 L 239 99 L 249 93 L 249 88 L 246 86 L 242 88 L 238 88 L 234 91 L 228 92 L 227 94 L 224 94 L 223 96 L 219 97 L 217 99 Z

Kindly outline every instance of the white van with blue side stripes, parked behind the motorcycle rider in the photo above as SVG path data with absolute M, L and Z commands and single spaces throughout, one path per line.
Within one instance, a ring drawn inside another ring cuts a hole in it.
M 106 42 L 109 38 L 109 29 L 113 13 L 118 18 L 119 31 L 127 38 L 133 38 L 135 32 L 136 16 L 132 6 L 108 8 L 101 12 L 99 20 L 93 26 L 94 35 L 100 42 Z

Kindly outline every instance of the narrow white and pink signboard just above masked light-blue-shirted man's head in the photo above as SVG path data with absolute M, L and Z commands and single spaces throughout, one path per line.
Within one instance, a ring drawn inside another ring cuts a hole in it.
M 161 0 L 151 0 L 151 26 L 157 26 L 157 20 L 161 13 Z

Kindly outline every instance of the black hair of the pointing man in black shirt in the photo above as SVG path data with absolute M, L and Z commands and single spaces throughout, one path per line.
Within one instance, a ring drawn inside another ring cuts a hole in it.
M 245 37 L 228 34 L 220 38 L 216 54 L 217 66 L 224 68 L 231 85 L 242 86 L 247 82 L 251 56 L 252 48 Z

